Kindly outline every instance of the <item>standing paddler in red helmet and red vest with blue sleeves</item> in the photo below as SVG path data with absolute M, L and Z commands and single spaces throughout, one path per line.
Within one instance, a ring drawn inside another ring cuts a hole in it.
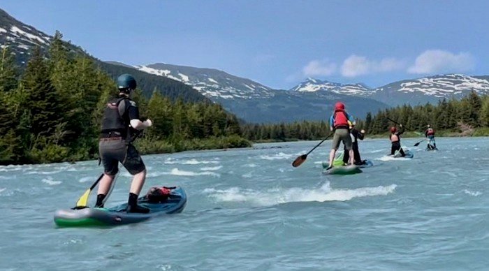
M 331 145 L 329 167 L 326 170 L 333 168 L 333 160 L 341 142 L 343 142 L 344 148 L 349 152 L 349 164 L 353 164 L 354 156 L 350 137 L 351 124 L 355 124 L 355 119 L 344 110 L 344 103 L 337 102 L 335 104 L 335 112 L 330 117 L 330 130 L 334 131 L 335 135 Z

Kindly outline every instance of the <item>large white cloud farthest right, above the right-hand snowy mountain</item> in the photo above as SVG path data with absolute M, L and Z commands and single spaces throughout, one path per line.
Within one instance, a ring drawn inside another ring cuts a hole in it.
M 471 71 L 475 66 L 474 57 L 467 52 L 453 54 L 444 50 L 426 50 L 408 68 L 408 73 L 458 73 Z

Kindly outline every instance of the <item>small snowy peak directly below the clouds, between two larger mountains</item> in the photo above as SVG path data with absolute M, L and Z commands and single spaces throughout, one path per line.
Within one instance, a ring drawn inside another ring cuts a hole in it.
M 360 83 L 343 85 L 335 82 L 321 81 L 314 78 L 307 78 L 307 80 L 305 80 L 304 82 L 301 82 L 299 85 L 291 88 L 291 91 L 300 91 L 300 92 L 330 91 L 336 94 L 368 97 L 372 95 L 372 92 L 374 90 Z

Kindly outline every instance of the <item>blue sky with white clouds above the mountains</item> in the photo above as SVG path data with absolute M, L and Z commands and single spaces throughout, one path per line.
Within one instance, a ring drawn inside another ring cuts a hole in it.
M 489 1 L 3 0 L 98 59 L 217 68 L 289 89 L 489 75 Z

